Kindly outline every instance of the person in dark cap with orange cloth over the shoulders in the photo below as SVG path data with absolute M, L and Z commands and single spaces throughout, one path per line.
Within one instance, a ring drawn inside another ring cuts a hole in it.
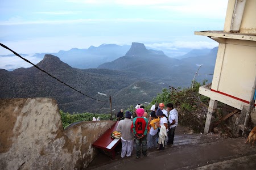
M 158 133 L 158 127 L 156 124 L 159 123 L 160 118 L 156 116 L 155 111 L 152 111 L 150 113 L 151 117 L 151 122 L 149 124 L 150 126 L 150 132 L 148 133 L 148 143 L 147 143 L 147 148 L 154 148 L 156 147 L 156 137 Z

